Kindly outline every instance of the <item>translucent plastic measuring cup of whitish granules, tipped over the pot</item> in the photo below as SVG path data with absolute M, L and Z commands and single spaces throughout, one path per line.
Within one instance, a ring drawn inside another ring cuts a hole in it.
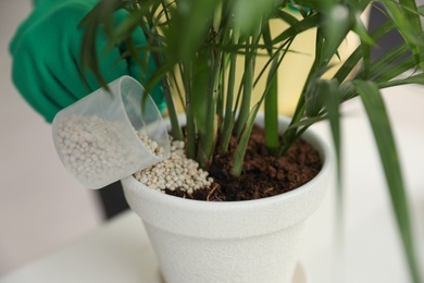
M 152 98 L 122 76 L 60 111 L 53 142 L 66 170 L 101 188 L 170 157 L 166 125 Z M 145 97 L 148 96 L 148 97 Z

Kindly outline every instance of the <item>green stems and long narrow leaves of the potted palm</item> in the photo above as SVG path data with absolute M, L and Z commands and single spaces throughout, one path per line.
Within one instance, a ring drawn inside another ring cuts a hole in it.
M 379 4 L 389 21 L 369 34 L 360 15 L 374 3 Z M 298 16 L 288 7 L 296 8 Z M 112 14 L 117 9 L 126 9 L 128 16 L 116 25 Z M 381 89 L 424 84 L 424 33 L 420 20 L 423 12 L 413 0 L 103 0 L 82 23 L 86 28 L 82 61 L 105 86 L 97 63 L 100 54 L 93 48 L 100 26 L 109 35 L 111 46 L 121 46 L 126 50 L 124 57 L 136 60 L 145 70 L 147 58 L 153 57 L 157 70 L 145 87 L 149 91 L 162 84 L 174 138 L 184 138 L 175 103 L 179 99 L 187 115 L 188 157 L 208 168 L 214 153 L 226 152 L 229 138 L 235 135 L 238 150 L 234 155 L 234 175 L 241 173 L 247 140 L 263 103 L 271 151 L 284 155 L 310 125 L 327 119 L 339 161 L 338 109 L 340 103 L 360 97 L 381 152 L 411 278 L 421 282 L 406 189 Z M 270 26 L 282 24 L 288 27 L 272 35 Z M 135 46 L 132 37 L 137 28 L 144 30 L 146 46 Z M 278 139 L 277 99 L 282 94 L 277 70 L 285 64 L 286 54 L 295 52 L 290 45 L 297 36 L 310 29 L 315 34 L 314 61 L 289 130 Z M 371 48 L 392 29 L 404 41 L 372 61 Z M 349 33 L 359 36 L 359 47 L 333 77 L 325 77 Z M 266 58 L 267 63 L 259 67 L 260 57 Z M 400 57 L 404 60 L 395 61 Z M 240 60 L 242 64 L 238 63 Z M 400 78 L 408 70 L 415 72 Z M 258 91 L 260 81 L 267 84 L 259 101 L 253 102 L 252 94 Z

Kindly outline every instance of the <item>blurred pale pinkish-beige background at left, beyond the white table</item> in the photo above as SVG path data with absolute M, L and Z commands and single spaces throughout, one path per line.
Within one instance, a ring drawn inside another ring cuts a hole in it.
M 0 1 L 0 276 L 102 221 L 97 195 L 67 174 L 51 126 L 12 85 L 8 47 L 30 10 L 30 0 Z

